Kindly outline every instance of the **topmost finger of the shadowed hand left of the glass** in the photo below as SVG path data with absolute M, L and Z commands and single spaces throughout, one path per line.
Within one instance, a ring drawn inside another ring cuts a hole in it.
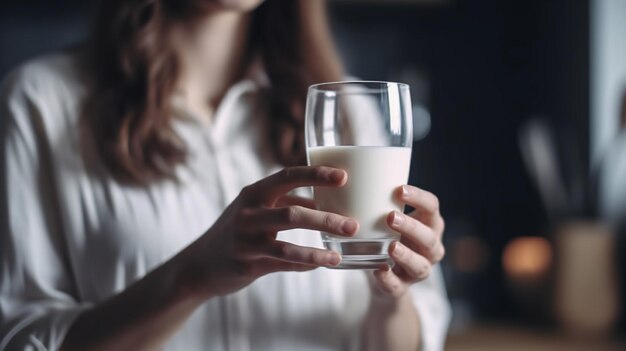
M 278 198 L 303 186 L 342 186 L 347 181 L 345 171 L 324 167 L 289 167 L 244 188 L 245 201 L 273 207 Z

